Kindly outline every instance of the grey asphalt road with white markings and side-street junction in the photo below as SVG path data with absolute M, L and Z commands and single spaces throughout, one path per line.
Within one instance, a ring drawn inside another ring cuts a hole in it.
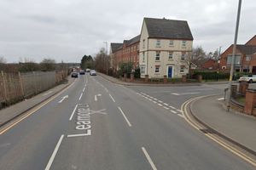
M 81 76 L 0 135 L 0 169 L 255 169 L 180 111 L 187 99 L 223 88 L 124 87 Z

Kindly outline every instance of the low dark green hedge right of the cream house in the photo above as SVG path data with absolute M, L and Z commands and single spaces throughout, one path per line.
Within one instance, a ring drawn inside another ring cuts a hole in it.
M 195 71 L 193 77 L 196 78 L 198 75 L 201 75 L 204 80 L 228 79 L 230 77 L 230 73 L 218 71 Z

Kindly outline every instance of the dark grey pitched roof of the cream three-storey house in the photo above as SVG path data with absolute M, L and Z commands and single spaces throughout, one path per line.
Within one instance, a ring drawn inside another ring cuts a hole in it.
M 144 18 L 148 37 L 193 40 L 186 20 Z

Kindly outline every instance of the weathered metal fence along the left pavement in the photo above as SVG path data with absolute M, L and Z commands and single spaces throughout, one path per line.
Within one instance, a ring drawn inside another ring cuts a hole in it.
M 54 87 L 67 77 L 67 71 L 35 71 L 0 74 L 0 108 Z

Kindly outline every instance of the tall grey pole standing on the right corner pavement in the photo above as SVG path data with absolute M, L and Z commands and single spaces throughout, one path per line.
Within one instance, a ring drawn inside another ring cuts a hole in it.
M 238 2 L 238 10 L 237 10 L 237 16 L 236 16 L 236 31 L 235 31 L 232 59 L 231 59 L 231 68 L 230 68 L 229 95 L 227 99 L 228 111 L 230 111 L 231 87 L 232 87 L 232 80 L 233 80 L 233 74 L 234 74 L 234 61 L 236 56 L 236 42 L 237 42 L 237 35 L 238 35 L 238 28 L 239 28 L 240 13 L 241 13 L 241 0 L 239 0 Z

